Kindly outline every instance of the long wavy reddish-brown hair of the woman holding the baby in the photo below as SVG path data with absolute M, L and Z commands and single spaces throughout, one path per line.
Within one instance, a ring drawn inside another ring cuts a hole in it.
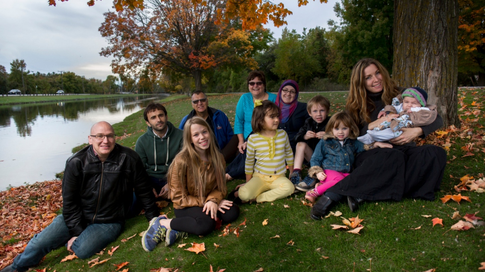
M 362 124 L 364 122 L 371 123 L 371 112 L 376 109 L 371 98 L 367 95 L 365 86 L 366 75 L 364 74 L 364 70 L 371 64 L 376 65 L 382 75 L 382 85 L 384 90 L 382 101 L 384 104 L 391 105 L 392 99 L 399 94 L 399 88 L 397 87 L 396 81 L 389 76 L 389 72 L 380 62 L 369 58 L 358 61 L 352 69 L 350 91 L 345 105 L 346 110 L 357 124 Z

